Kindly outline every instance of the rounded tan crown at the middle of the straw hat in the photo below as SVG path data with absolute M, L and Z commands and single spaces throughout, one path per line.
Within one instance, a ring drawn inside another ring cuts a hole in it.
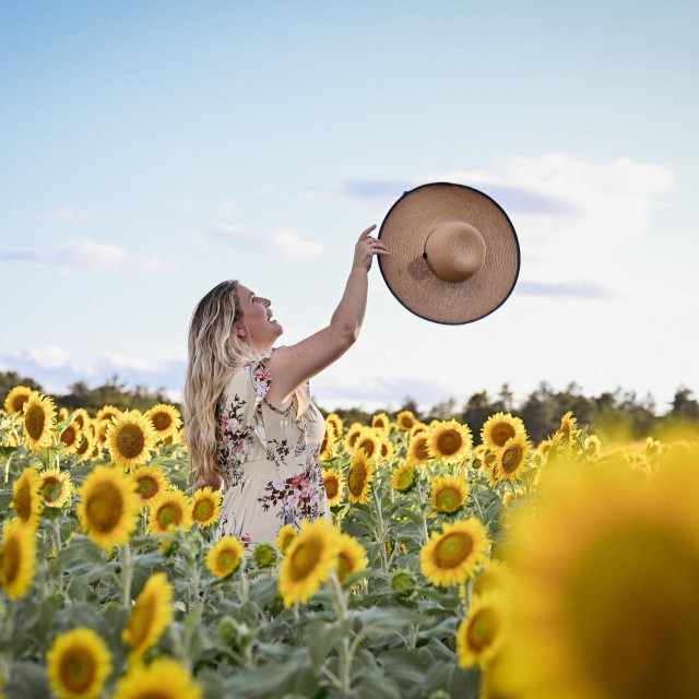
M 475 226 L 463 221 L 438 224 L 425 241 L 425 259 L 446 282 L 471 279 L 485 260 L 485 240 Z

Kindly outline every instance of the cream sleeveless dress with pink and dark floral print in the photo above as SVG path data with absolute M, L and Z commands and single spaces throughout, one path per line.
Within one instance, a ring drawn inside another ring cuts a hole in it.
M 320 470 L 325 422 L 309 382 L 280 411 L 266 400 L 273 350 L 238 369 L 216 406 L 216 467 L 224 497 L 215 540 L 274 542 L 284 524 L 330 517 Z

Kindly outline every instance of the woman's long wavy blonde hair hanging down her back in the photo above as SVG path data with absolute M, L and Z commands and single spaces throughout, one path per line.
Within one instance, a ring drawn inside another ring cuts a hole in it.
M 194 308 L 189 323 L 182 413 L 190 474 L 215 483 L 216 405 L 228 381 L 254 359 L 250 345 L 234 331 L 240 317 L 238 280 L 214 286 Z

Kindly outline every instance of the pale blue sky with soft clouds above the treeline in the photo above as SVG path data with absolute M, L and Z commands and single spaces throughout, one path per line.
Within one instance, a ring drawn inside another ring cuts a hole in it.
M 0 370 L 180 400 L 209 289 L 238 279 L 299 342 L 359 234 L 448 181 L 510 217 L 511 296 L 441 325 L 375 262 L 317 404 L 574 381 L 666 412 L 699 391 L 698 21 L 691 2 L 0 1 Z

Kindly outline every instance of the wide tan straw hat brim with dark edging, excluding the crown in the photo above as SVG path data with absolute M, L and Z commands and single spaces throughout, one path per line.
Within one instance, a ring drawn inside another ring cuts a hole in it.
M 425 240 L 436 226 L 464 222 L 479 232 L 485 259 L 463 282 L 437 276 L 424 257 Z M 378 238 L 391 254 L 377 256 L 383 281 L 411 312 L 445 324 L 479 320 L 512 293 L 520 271 L 520 245 L 501 206 L 473 187 L 431 182 L 406 191 L 383 218 Z

